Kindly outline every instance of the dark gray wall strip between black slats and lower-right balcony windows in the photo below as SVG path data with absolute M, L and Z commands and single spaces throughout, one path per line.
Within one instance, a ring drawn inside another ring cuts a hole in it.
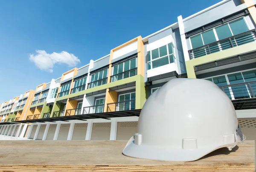
M 217 70 L 217 71 L 208 72 L 208 73 L 202 73 L 200 75 L 197 75 L 196 78 L 198 78 L 198 79 L 208 78 L 208 77 L 211 77 L 211 76 L 224 75 L 226 73 L 239 72 L 241 70 L 247 70 L 247 69 L 252 69 L 252 68 L 256 68 L 256 62 L 246 64 L 246 65 L 236 66 L 236 67 L 233 67 L 233 68 L 227 68 L 227 69 Z

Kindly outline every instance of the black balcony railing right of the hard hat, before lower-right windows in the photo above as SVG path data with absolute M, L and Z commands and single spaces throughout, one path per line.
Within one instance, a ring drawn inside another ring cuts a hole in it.
M 254 98 L 256 95 L 256 81 L 223 85 L 220 88 L 231 100 Z

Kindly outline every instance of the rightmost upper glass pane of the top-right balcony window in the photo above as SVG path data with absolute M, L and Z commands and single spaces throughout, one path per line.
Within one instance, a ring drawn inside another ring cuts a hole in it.
M 244 22 L 244 18 L 241 17 L 237 20 L 229 22 L 230 28 L 233 32 L 233 35 L 241 34 L 243 32 L 249 31 L 246 23 Z

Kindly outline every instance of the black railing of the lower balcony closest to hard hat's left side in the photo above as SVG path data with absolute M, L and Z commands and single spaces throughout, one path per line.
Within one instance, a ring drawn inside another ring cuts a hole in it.
M 128 100 L 124 102 L 115 102 L 109 103 L 107 112 L 116 112 L 122 110 L 134 110 L 135 109 L 135 100 Z

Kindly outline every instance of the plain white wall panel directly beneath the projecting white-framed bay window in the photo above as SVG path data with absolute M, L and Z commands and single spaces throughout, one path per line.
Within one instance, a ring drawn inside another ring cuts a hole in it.
M 175 63 L 170 63 L 168 65 L 163 65 L 158 68 L 147 70 L 147 77 L 157 76 L 163 73 L 168 73 L 172 71 L 178 71 L 177 65 Z M 179 73 L 178 73 L 179 74 Z

